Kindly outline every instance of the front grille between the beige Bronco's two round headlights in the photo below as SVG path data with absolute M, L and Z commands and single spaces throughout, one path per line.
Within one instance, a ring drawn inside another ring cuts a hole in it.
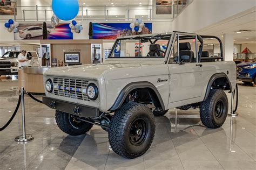
M 57 96 L 90 101 L 86 94 L 88 84 L 88 80 L 53 77 L 53 93 Z

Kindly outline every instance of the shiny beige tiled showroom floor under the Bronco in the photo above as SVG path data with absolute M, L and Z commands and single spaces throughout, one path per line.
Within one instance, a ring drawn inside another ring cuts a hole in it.
M 0 82 L 0 126 L 10 118 L 18 99 L 17 81 Z M 88 134 L 68 136 L 55 123 L 54 110 L 25 97 L 26 144 L 21 112 L 0 132 L 0 169 L 255 169 L 256 87 L 239 84 L 239 116 L 227 117 L 219 129 L 200 123 L 198 110 L 178 110 L 156 117 L 156 135 L 149 151 L 129 160 L 111 150 L 107 133 L 97 126 Z

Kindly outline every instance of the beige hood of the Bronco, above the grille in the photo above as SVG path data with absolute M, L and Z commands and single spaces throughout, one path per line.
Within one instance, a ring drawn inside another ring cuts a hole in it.
M 148 65 L 136 63 L 105 63 L 98 65 L 79 65 L 71 67 L 51 68 L 47 72 L 45 72 L 44 75 L 87 77 L 97 79 L 100 77 L 100 75 L 109 72 L 118 72 L 121 69 L 136 69 L 146 66 Z

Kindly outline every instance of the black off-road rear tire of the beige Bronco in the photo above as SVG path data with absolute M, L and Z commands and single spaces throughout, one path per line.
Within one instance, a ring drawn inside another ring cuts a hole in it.
M 227 112 L 227 95 L 223 90 L 212 89 L 208 98 L 201 103 L 200 119 L 207 128 L 219 128 L 225 122 Z

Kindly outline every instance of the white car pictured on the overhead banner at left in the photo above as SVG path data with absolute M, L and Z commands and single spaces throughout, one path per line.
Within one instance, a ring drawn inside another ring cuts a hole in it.
M 50 34 L 51 30 L 47 29 L 47 33 Z M 29 26 L 19 31 L 19 37 L 31 39 L 32 37 L 43 36 L 43 28 L 40 26 Z

